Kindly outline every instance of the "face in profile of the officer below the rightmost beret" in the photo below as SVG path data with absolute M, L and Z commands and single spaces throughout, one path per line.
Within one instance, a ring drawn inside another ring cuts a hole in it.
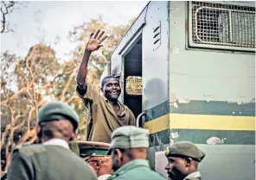
M 168 176 L 172 180 L 182 180 L 188 175 L 186 160 L 184 158 L 168 158 L 168 164 L 166 165 L 165 170 L 167 170 Z

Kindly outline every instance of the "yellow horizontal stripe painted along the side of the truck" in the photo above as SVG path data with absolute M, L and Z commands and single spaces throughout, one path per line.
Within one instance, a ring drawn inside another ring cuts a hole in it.
M 254 116 L 170 114 L 145 123 L 150 133 L 169 128 L 255 131 Z

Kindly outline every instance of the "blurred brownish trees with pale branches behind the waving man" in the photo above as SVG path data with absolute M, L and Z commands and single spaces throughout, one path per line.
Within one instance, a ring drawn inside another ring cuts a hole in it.
M 99 16 L 90 22 L 74 28 L 70 40 L 78 46 L 72 59 L 61 63 L 56 59 L 54 49 L 37 44 L 29 49 L 25 59 L 11 53 L 1 56 L 1 149 L 5 148 L 7 170 L 10 157 L 16 146 L 29 140 L 35 141 L 35 122 L 38 109 L 49 101 L 67 102 L 80 116 L 77 140 L 84 140 L 86 131 L 86 108 L 76 95 L 76 74 L 83 51 L 91 32 L 104 29 L 109 38 L 105 46 L 93 53 L 88 66 L 87 81 L 99 90 L 99 78 L 110 59 L 113 48 L 125 34 L 129 25 L 111 26 Z

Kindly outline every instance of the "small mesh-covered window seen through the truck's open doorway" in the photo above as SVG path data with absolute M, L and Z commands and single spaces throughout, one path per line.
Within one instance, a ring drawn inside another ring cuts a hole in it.
M 142 95 L 142 78 L 136 76 L 130 76 L 126 78 L 126 94 L 130 96 Z

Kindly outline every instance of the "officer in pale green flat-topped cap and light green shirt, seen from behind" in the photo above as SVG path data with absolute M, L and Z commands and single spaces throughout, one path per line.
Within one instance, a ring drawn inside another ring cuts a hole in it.
M 118 127 L 111 137 L 110 153 L 114 173 L 108 180 L 163 180 L 151 171 L 146 160 L 149 147 L 149 130 L 126 126 Z

